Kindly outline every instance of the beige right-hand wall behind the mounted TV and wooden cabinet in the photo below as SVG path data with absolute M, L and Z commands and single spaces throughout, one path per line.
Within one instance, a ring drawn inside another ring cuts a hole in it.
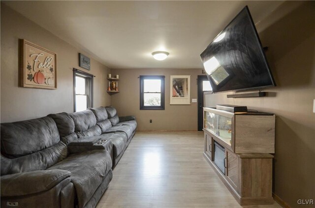
M 273 21 L 295 2 L 285 2 L 265 21 Z M 274 193 L 292 208 L 298 199 L 315 200 L 315 4 L 307 2 L 259 33 L 277 87 L 264 98 L 206 95 L 206 106 L 247 105 L 276 114 Z M 262 24 L 263 25 L 263 24 Z M 258 25 L 259 26 L 259 25 Z M 259 30 L 259 27 L 257 27 Z M 303 207 L 314 207 L 303 206 Z

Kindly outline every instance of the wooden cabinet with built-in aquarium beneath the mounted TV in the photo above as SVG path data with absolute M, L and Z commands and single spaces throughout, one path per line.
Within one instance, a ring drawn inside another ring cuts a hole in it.
M 275 115 L 204 108 L 204 157 L 240 205 L 273 204 Z

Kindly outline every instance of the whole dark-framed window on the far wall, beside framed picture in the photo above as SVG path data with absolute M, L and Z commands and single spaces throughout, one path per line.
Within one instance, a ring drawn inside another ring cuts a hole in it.
M 140 110 L 164 110 L 164 76 L 140 76 Z

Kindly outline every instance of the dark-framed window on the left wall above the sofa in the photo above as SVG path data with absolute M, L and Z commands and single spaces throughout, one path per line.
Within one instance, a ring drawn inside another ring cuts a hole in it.
M 93 78 L 89 73 L 73 69 L 74 112 L 93 107 Z

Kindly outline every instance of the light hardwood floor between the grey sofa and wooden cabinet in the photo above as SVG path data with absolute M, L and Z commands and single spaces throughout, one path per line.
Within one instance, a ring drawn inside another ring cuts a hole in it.
M 203 132 L 137 132 L 97 208 L 241 208 L 203 146 Z

